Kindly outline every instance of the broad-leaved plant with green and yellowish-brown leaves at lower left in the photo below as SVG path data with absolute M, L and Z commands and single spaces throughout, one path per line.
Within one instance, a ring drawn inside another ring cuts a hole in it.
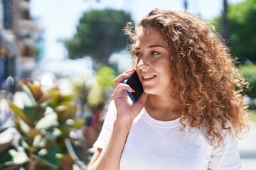
M 82 143 L 70 133 L 84 125 L 84 119 L 73 119 L 76 113 L 73 94 L 58 89 L 43 89 L 36 82 L 21 80 L 23 108 L 9 102 L 16 115 L 15 129 L 21 136 L 0 145 L 0 169 L 23 166 L 26 169 L 72 169 L 83 161 Z

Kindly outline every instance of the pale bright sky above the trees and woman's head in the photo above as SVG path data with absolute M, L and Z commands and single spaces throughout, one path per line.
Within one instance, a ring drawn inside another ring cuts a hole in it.
M 152 8 L 183 9 L 183 0 L 31 0 L 31 16 L 43 30 L 44 60 L 63 60 L 67 51 L 59 40 L 69 39 L 82 13 L 92 8 L 115 8 L 131 13 L 135 22 Z M 243 0 L 228 0 L 235 4 Z M 220 15 L 223 0 L 188 0 L 188 11 L 208 20 Z

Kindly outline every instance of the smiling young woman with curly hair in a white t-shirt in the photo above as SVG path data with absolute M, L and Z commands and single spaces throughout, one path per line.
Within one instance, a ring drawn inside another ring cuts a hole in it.
M 115 79 L 89 169 L 240 169 L 247 85 L 227 47 L 200 18 L 154 9 L 125 28 L 144 94 Z

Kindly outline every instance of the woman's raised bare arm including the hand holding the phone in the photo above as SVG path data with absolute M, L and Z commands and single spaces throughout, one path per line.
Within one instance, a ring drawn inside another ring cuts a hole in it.
M 129 100 L 127 91 L 132 92 L 133 89 L 127 84 L 123 84 L 123 82 L 133 72 L 134 70 L 130 69 L 114 80 L 116 89 L 113 93 L 113 99 L 117 109 L 117 118 L 114 120 L 112 132 L 106 147 L 104 149 L 97 149 L 89 164 L 89 170 L 119 169 L 119 162 L 127 135 L 132 127 L 134 118 L 142 111 L 147 96 L 146 94 L 142 94 L 142 97 L 139 98 L 137 103 L 132 103 Z

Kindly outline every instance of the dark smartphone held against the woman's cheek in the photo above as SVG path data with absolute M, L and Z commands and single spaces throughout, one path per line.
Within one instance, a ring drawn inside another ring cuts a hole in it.
M 124 84 L 128 84 L 132 89 L 134 89 L 135 92 L 131 93 L 127 91 L 127 93 L 134 103 L 137 102 L 143 93 L 143 86 L 141 81 L 139 81 L 137 72 L 135 71 L 130 77 L 124 80 Z

